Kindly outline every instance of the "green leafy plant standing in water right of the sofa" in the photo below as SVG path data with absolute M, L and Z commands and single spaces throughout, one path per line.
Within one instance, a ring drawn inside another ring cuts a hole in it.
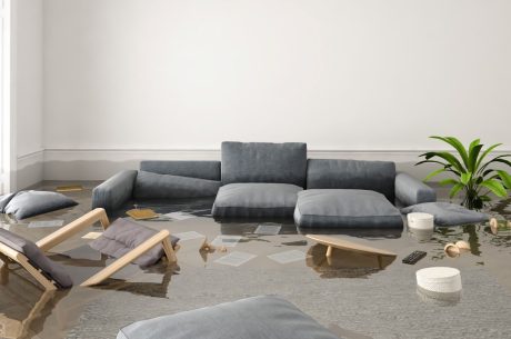
M 495 143 L 483 150 L 483 144 L 480 139 L 473 140 L 465 148 L 460 140 L 454 137 L 430 137 L 449 143 L 454 148 L 455 152 L 438 151 L 425 152 L 419 157 L 424 160 L 415 163 L 435 163 L 440 168 L 429 173 L 424 181 L 447 172 L 451 175 L 449 179 L 443 179 L 439 183 L 442 186 L 452 186 L 449 197 L 452 199 L 459 192 L 464 192 L 464 198 L 461 205 L 469 209 L 481 209 L 491 201 L 489 193 L 492 192 L 497 197 L 508 197 L 508 190 L 511 190 L 511 176 L 504 168 L 511 167 L 511 161 L 508 157 L 511 154 L 501 154 L 485 161 L 487 157 L 502 143 Z M 499 164 L 499 168 L 494 168 Z

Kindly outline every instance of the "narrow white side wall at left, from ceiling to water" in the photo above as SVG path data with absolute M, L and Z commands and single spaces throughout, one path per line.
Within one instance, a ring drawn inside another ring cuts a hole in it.
M 12 77 L 18 188 L 43 179 L 43 0 L 12 0 Z

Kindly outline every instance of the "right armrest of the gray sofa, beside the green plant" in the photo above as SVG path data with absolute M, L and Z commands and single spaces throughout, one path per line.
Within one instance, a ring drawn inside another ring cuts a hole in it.
M 403 172 L 395 175 L 395 199 L 404 206 L 437 201 L 434 189 Z

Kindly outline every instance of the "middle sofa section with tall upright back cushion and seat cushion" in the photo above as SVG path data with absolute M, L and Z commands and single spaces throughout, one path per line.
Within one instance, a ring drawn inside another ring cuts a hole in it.
M 307 173 L 307 144 L 222 142 L 216 218 L 292 217 Z

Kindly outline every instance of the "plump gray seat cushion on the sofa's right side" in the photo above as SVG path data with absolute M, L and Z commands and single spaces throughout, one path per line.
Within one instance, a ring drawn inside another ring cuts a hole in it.
M 305 228 L 394 228 L 402 227 L 403 220 L 381 193 L 312 189 L 298 193 L 294 223 Z

